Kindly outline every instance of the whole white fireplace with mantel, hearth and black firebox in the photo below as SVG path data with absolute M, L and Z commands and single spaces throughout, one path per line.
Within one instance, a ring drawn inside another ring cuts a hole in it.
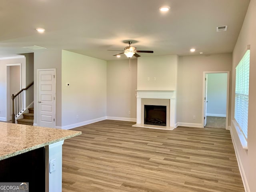
M 137 118 L 133 126 L 173 130 L 176 128 L 175 106 L 173 90 L 137 90 Z M 152 114 L 156 117 L 148 118 Z

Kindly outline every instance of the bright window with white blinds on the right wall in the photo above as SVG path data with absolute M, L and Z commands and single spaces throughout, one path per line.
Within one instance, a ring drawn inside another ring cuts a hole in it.
M 250 50 L 236 66 L 235 120 L 247 141 Z

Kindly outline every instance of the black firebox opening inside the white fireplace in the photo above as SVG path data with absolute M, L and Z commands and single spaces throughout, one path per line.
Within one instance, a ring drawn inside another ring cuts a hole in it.
M 166 106 L 144 105 L 144 124 L 166 126 Z

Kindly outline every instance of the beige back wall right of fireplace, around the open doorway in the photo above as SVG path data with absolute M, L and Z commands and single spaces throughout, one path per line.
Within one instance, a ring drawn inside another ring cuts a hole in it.
M 180 56 L 178 60 L 177 122 L 202 127 L 203 72 L 231 71 L 231 69 L 231 53 Z M 196 119 L 193 119 L 193 116 L 196 116 Z

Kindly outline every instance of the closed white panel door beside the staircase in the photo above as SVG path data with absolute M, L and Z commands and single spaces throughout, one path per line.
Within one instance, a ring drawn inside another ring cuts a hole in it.
M 55 125 L 55 70 L 38 70 L 38 126 Z

